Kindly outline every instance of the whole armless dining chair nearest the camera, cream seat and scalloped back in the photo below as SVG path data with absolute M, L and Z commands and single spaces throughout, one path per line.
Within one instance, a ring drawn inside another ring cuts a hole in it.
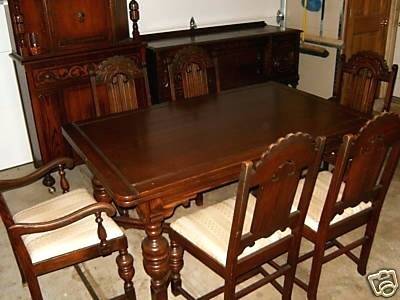
M 243 297 L 272 282 L 290 299 L 304 219 L 319 170 L 325 138 L 290 134 L 268 147 L 259 161 L 242 163 L 236 199 L 230 198 L 171 223 L 170 270 L 174 295 L 191 296 L 181 284 L 184 250 L 225 280 L 201 299 L 224 292 L 224 299 Z M 292 207 L 304 172 L 298 205 Z M 257 189 L 253 196 L 250 191 Z M 262 265 L 287 254 L 273 274 Z M 235 292 L 236 284 L 257 274 L 263 278 Z M 283 287 L 275 281 L 285 276 Z

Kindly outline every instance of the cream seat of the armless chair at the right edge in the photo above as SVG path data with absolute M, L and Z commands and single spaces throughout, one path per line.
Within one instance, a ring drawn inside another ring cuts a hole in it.
M 319 225 L 319 220 L 321 218 L 322 210 L 324 208 L 326 196 L 328 194 L 328 189 L 330 182 L 332 180 L 332 173 L 329 171 L 322 171 L 319 173 L 317 182 L 315 184 L 314 188 L 314 193 L 310 202 L 310 206 L 308 208 L 307 212 L 307 217 L 305 220 L 305 224 L 310 227 L 312 230 L 317 231 L 318 230 L 318 225 Z M 297 188 L 297 193 L 295 197 L 295 201 L 293 206 L 297 207 L 299 201 L 300 201 L 300 196 L 301 196 L 301 191 L 303 189 L 304 185 L 304 179 L 300 180 L 299 186 Z M 345 184 L 342 183 L 342 186 L 340 187 L 339 191 L 339 196 L 338 198 L 341 199 L 343 195 L 343 191 L 345 188 Z M 336 222 L 339 222 L 351 215 L 354 215 L 366 208 L 371 207 L 371 202 L 365 203 L 361 202 L 359 205 L 355 207 L 349 207 L 346 208 L 341 215 L 336 215 L 333 220 L 331 221 L 331 224 L 334 224 Z

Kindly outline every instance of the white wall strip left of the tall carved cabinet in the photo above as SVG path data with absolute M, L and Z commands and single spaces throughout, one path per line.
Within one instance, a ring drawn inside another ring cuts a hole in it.
M 10 52 L 4 7 L 0 6 L 0 170 L 32 161 Z

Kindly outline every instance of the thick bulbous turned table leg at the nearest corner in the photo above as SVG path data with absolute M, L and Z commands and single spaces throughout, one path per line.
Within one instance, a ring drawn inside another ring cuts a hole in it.
M 142 242 L 143 265 L 151 277 L 151 297 L 153 300 L 168 299 L 169 279 L 168 241 L 161 235 L 162 221 L 145 225 L 147 237 Z

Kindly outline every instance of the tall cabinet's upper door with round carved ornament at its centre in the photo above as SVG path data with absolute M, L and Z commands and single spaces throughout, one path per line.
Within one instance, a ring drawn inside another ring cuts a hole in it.
M 47 0 L 54 46 L 58 49 L 112 41 L 110 1 Z

